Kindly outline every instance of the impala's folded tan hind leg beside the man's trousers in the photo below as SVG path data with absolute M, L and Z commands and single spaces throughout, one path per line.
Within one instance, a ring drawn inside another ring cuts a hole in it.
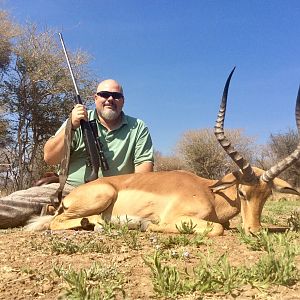
M 50 224 L 51 230 L 65 230 L 82 227 L 82 219 L 87 223 L 102 223 L 100 214 L 116 199 L 117 191 L 109 184 L 82 186 L 76 193 L 70 193 L 64 198 L 64 210 L 55 216 Z

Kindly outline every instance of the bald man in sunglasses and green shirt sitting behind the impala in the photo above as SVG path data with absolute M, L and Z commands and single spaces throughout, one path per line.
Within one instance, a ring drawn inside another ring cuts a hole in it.
M 153 171 L 153 145 L 148 128 L 143 121 L 123 112 L 122 86 L 113 79 L 100 82 L 95 98 L 95 110 L 86 110 L 77 104 L 72 111 L 72 144 L 69 172 L 64 195 L 83 184 L 91 173 L 87 166 L 80 120 L 96 119 L 104 156 L 109 165 L 107 171 L 99 170 L 99 177 Z M 61 162 L 64 148 L 66 122 L 44 147 L 44 159 L 49 165 Z M 0 228 L 24 225 L 33 215 L 40 214 L 42 207 L 50 203 L 50 196 L 59 184 L 51 183 L 28 190 L 17 191 L 0 199 Z

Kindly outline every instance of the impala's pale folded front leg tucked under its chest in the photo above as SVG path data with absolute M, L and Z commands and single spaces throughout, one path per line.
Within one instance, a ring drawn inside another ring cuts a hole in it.
M 179 233 L 178 228 L 182 228 L 182 224 L 185 222 L 186 224 L 192 224 L 195 233 L 204 233 L 207 229 L 211 228 L 211 231 L 207 234 L 208 236 L 219 236 L 224 232 L 224 228 L 219 223 L 208 222 L 202 219 L 197 219 L 193 217 L 181 217 L 172 222 L 164 222 L 159 224 L 151 223 L 147 227 L 147 231 L 152 232 L 164 232 L 164 233 Z M 191 223 L 192 222 L 192 223 Z

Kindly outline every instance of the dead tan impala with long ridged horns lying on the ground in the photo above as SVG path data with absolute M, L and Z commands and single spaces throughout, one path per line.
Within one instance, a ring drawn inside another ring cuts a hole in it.
M 203 232 L 208 222 L 210 235 L 221 235 L 224 224 L 242 215 L 244 230 L 260 229 L 261 212 L 272 190 L 300 195 L 277 178 L 300 157 L 300 144 L 288 157 L 264 171 L 250 164 L 231 146 L 224 135 L 227 94 L 234 69 L 224 87 L 215 125 L 217 140 L 239 167 L 220 180 L 201 178 L 185 171 L 153 172 L 100 178 L 74 189 L 61 203 L 54 217 L 31 224 L 33 229 L 74 229 L 83 223 L 120 219 L 138 221 L 145 230 L 176 233 L 182 222 L 192 222 L 195 232 Z M 300 89 L 296 104 L 300 128 Z M 43 217 L 42 217 L 43 218 Z M 51 218 L 51 219 L 49 219 Z M 85 221 L 85 222 L 82 222 Z

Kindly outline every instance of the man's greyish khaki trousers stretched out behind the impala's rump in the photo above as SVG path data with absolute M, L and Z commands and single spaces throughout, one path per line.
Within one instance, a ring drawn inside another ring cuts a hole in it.
M 51 203 L 50 197 L 58 187 L 59 183 L 50 183 L 0 198 L 0 229 L 24 226 L 31 217 L 40 215 L 43 206 Z M 63 197 L 74 188 L 66 183 Z

